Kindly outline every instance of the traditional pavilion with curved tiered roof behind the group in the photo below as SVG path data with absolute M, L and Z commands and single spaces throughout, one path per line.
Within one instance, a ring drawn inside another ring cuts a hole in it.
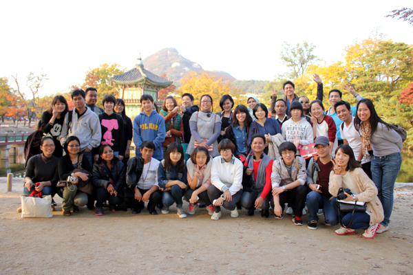
M 149 94 L 156 104 L 162 104 L 158 100 L 158 91 L 171 85 L 173 81 L 163 78 L 144 69 L 142 58 L 138 58 L 139 63 L 123 74 L 110 78 L 110 85 L 119 91 L 119 98 L 125 101 L 125 111 L 129 118 L 133 119 L 140 113 L 140 97 L 142 94 Z

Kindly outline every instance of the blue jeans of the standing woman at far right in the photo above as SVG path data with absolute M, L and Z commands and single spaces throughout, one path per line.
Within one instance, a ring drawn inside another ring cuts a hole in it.
M 384 210 L 384 220 L 381 224 L 388 226 L 393 209 L 393 189 L 396 177 L 401 166 L 401 153 L 394 153 L 384 157 L 372 158 L 372 176 L 376 184 L 381 204 Z

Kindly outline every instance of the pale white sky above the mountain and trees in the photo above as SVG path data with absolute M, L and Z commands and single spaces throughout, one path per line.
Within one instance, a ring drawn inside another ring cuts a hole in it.
M 139 54 L 175 47 L 204 69 L 273 80 L 287 70 L 284 41 L 312 43 L 327 63 L 374 30 L 413 44 L 412 25 L 385 18 L 404 7 L 413 1 L 3 1 L 0 76 L 45 73 L 43 94 L 54 94 L 89 68 L 131 68 Z

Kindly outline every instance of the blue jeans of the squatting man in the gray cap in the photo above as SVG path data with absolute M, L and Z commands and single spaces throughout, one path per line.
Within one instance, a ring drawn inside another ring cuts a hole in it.
M 330 203 L 330 197 L 321 195 L 319 192 L 310 191 L 307 194 L 308 221 L 318 221 L 317 212 L 324 209 L 326 223 L 337 225 L 339 223 L 339 214 L 335 211 Z

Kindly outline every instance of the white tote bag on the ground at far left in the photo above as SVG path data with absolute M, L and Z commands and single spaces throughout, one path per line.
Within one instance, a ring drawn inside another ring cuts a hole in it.
M 20 196 L 21 217 L 22 218 L 51 218 L 52 196 L 47 195 L 43 198 Z

